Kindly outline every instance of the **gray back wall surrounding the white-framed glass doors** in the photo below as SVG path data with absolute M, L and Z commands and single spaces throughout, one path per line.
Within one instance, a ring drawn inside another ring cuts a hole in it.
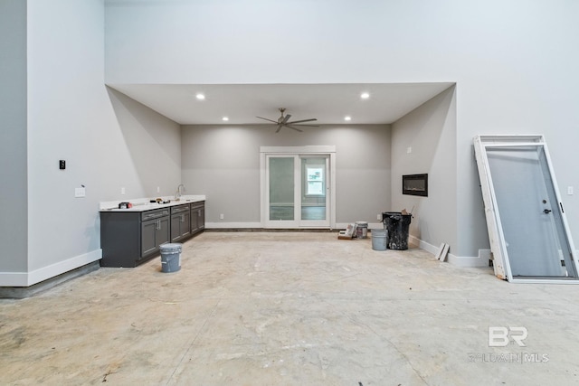
M 260 222 L 260 146 L 336 146 L 337 222 L 375 221 L 390 204 L 390 127 L 185 126 L 183 181 L 206 194 L 207 222 Z M 219 214 L 224 219 L 219 219 Z

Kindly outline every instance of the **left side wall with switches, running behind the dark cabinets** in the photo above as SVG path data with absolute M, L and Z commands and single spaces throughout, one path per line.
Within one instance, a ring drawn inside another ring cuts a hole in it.
M 27 149 L 16 153 L 27 154 L 28 251 L 0 267 L 0 286 L 29 286 L 100 259 L 98 203 L 155 196 L 157 186 L 171 194 L 181 174 L 180 127 L 104 85 L 102 1 L 30 0 L 26 23 Z M 86 197 L 74 198 L 81 184 Z

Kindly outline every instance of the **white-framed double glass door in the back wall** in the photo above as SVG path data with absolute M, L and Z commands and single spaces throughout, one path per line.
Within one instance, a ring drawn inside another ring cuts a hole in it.
M 330 154 L 262 155 L 261 220 L 265 228 L 330 228 Z

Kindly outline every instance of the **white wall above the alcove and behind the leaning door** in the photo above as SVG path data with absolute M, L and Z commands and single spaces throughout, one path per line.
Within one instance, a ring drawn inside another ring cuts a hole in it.
M 242 14 L 243 17 L 239 15 Z M 108 2 L 111 83 L 457 83 L 457 255 L 488 246 L 472 137 L 542 133 L 579 186 L 579 2 Z M 282 19 L 280 19 L 282 18 Z M 289 26 L 280 27 L 280 20 Z M 294 27 L 299 23 L 299 28 Z M 565 190 L 566 191 L 566 190 Z M 579 201 L 565 196 L 574 239 Z

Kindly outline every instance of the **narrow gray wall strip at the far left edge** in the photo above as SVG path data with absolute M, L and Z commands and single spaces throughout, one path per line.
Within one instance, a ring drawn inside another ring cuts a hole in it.
M 0 273 L 26 270 L 26 2 L 0 2 Z

